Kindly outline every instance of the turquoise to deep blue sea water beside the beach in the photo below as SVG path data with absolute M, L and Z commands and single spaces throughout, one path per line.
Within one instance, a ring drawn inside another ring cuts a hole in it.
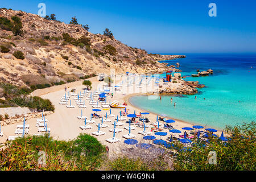
M 170 64 L 179 62 L 183 71 L 182 76 L 191 76 L 197 73 L 197 69 L 200 71 L 213 69 L 214 73 L 208 77 L 185 78 L 188 81 L 205 84 L 206 87 L 199 89 L 196 95 L 163 96 L 162 100 L 159 98 L 148 100 L 147 96 L 134 96 L 130 98 L 133 105 L 216 129 L 255 121 L 255 55 L 187 55 L 185 59 L 164 62 Z M 197 96 L 196 100 L 195 96 Z M 174 102 L 176 102 L 175 107 Z

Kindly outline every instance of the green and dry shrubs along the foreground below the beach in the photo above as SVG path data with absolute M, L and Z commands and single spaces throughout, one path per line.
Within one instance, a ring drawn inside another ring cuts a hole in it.
M 209 142 L 194 139 L 190 147 L 179 142 L 171 147 L 126 147 L 114 157 L 106 155 L 105 146 L 88 134 L 74 140 L 54 140 L 48 135 L 17 138 L 0 152 L 1 170 L 218 170 L 255 171 L 255 123 L 229 127 L 226 142 L 210 137 Z M 46 164 L 38 163 L 39 151 L 46 154 Z M 217 154 L 216 164 L 209 163 L 209 152 Z M 15 159 L 15 160 L 14 160 Z

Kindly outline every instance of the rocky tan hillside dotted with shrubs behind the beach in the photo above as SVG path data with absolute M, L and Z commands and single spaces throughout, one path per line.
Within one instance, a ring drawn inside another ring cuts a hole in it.
M 0 9 L 0 81 L 15 85 L 71 82 L 110 73 L 166 71 L 153 55 L 114 37 L 92 34 L 79 24 L 47 20 L 23 11 Z

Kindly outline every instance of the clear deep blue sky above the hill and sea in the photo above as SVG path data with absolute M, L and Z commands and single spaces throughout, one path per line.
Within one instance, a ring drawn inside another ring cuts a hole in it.
M 109 28 L 122 43 L 152 53 L 256 53 L 255 0 L 0 0 L 0 6 L 37 14 L 42 2 L 58 20 L 76 16 L 90 32 Z M 212 2 L 217 17 L 208 15 Z

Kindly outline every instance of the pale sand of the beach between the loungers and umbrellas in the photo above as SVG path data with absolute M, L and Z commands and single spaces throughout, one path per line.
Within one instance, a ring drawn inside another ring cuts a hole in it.
M 97 77 L 93 77 L 93 78 L 89 78 L 88 80 L 90 80 L 92 82 L 92 92 L 93 90 L 96 90 L 98 88 L 101 88 L 102 85 L 106 85 L 106 83 L 100 82 L 98 81 Z M 154 81 L 152 84 L 154 84 Z M 100 85 L 100 86 L 99 86 Z M 135 85 L 134 85 L 135 86 Z M 71 94 L 70 90 L 72 89 L 76 89 L 76 93 L 83 93 L 84 90 L 82 90 L 83 88 L 85 88 L 84 85 L 80 85 L 80 86 L 74 86 L 72 88 L 68 88 L 67 90 L 67 95 L 68 95 L 68 91 Z M 123 89 L 129 89 L 128 86 L 127 88 L 125 88 L 125 86 L 122 86 Z M 150 88 L 148 88 L 149 90 L 147 90 L 148 92 L 154 92 L 154 86 L 150 86 Z M 109 103 L 109 101 L 118 101 L 119 104 L 123 104 L 123 102 L 127 103 L 126 106 L 126 111 L 129 114 L 134 114 L 134 110 L 136 111 L 136 114 L 139 114 L 139 112 L 143 112 L 142 109 L 139 109 L 133 105 L 130 104 L 129 102 L 129 97 L 134 96 L 135 94 L 142 94 L 140 93 L 141 90 L 135 89 L 133 92 L 126 92 L 121 90 L 121 92 L 115 92 L 113 94 L 113 98 L 111 97 L 111 94 L 109 94 L 109 96 L 106 98 L 107 101 Z M 75 139 L 80 133 L 86 133 L 86 134 L 92 134 L 95 131 L 98 131 L 98 127 L 96 126 L 98 123 L 101 123 L 101 119 L 94 119 L 94 121 L 96 121 L 96 123 L 90 123 L 87 125 L 92 126 L 92 129 L 89 130 L 81 130 L 80 126 L 84 125 L 84 120 L 83 119 L 77 119 L 78 116 L 81 115 L 81 108 L 78 107 L 78 105 L 76 105 L 75 100 L 73 100 L 73 98 L 75 98 L 75 96 L 71 96 L 71 105 L 74 105 L 75 108 L 67 108 L 66 105 L 60 105 L 60 99 L 61 97 L 63 97 L 65 94 L 64 89 L 57 89 L 56 91 L 47 93 L 42 95 L 42 98 L 47 98 L 49 100 L 52 101 L 52 104 L 55 105 L 55 113 L 51 114 L 51 115 L 47 115 L 46 119 L 48 119 L 48 128 L 51 129 L 51 136 L 54 139 L 60 139 L 60 140 L 71 140 L 71 139 Z M 97 101 L 98 97 L 95 98 L 94 100 Z M 86 98 L 82 98 L 82 100 L 85 100 L 85 105 L 87 106 L 86 109 L 82 109 L 82 114 L 85 115 L 88 119 L 90 119 L 90 114 L 91 113 L 95 113 L 94 111 L 92 111 L 92 106 L 89 105 L 89 101 L 86 100 Z M 69 105 L 69 101 L 68 101 L 68 105 Z M 101 104 L 99 104 L 101 105 Z M 101 111 L 98 112 L 97 114 L 104 116 L 105 118 L 105 113 L 107 112 L 108 114 L 110 113 L 109 110 L 103 110 L 102 108 L 100 108 Z M 122 109 L 122 111 L 124 111 L 124 109 Z M 107 146 L 109 146 L 110 148 L 110 152 L 112 150 L 116 150 L 118 147 L 119 143 L 123 143 L 123 141 L 125 140 L 125 138 L 123 138 L 123 135 L 129 134 L 129 130 L 124 129 L 124 127 L 129 126 L 129 123 L 126 123 L 126 121 L 129 121 L 129 118 L 127 118 L 125 121 L 119 121 L 124 123 L 123 126 L 117 126 L 117 129 L 122 129 L 123 131 L 120 133 L 116 133 L 115 134 L 115 138 L 120 139 L 120 142 L 118 143 L 109 143 L 106 142 L 106 139 L 108 138 L 112 138 L 113 137 L 113 132 L 110 132 L 110 129 L 114 128 L 114 125 L 112 125 L 112 123 L 114 123 L 114 119 L 117 117 L 119 117 L 119 112 L 120 109 L 114 109 L 112 108 L 112 114 L 114 115 L 114 117 L 109 118 L 111 119 L 111 122 L 106 122 L 105 124 L 108 125 L 108 127 L 106 128 L 101 128 L 100 131 L 104 131 L 106 134 L 105 135 L 101 135 L 96 137 L 102 144 L 105 144 Z M 150 113 L 148 115 L 146 115 L 146 117 L 150 120 L 150 123 L 156 122 L 156 114 L 155 113 Z M 167 118 L 167 117 L 165 117 Z M 167 118 L 167 119 L 172 119 L 172 118 Z M 138 121 L 138 119 L 137 119 Z M 172 123 L 172 126 L 175 127 L 175 129 L 181 130 L 182 132 L 184 132 L 184 130 L 182 130 L 183 127 L 192 127 L 193 125 L 191 123 L 187 123 L 184 121 L 179 121 L 177 119 L 175 119 L 175 123 Z M 141 122 L 142 123 L 142 122 Z M 146 125 L 152 127 L 152 125 L 150 125 L 150 123 L 146 123 Z M 163 125 L 163 121 L 160 121 L 160 124 Z M 29 129 L 29 133 L 30 135 L 32 134 L 36 134 L 38 133 L 38 127 L 36 127 L 36 118 L 32 118 L 32 119 L 28 119 L 26 121 L 26 124 L 30 125 L 30 129 Z M 2 132 L 3 132 L 3 137 L 0 138 L 0 142 L 3 143 L 5 142 L 5 140 L 9 137 L 9 136 L 15 136 L 14 131 L 16 129 L 16 125 L 22 125 L 22 123 L 15 123 L 13 125 L 7 125 L 7 126 L 3 126 L 2 127 Z M 131 130 L 131 134 L 134 134 L 136 137 L 135 139 L 137 140 L 142 140 L 142 137 L 144 137 L 141 134 L 138 134 L 139 131 L 143 130 L 143 127 L 137 127 L 135 125 L 133 125 L 135 127 L 135 130 Z M 150 127 L 148 127 L 146 130 L 150 131 Z M 170 137 L 171 133 L 168 131 L 168 129 L 164 129 L 164 132 L 167 132 L 167 136 L 164 137 L 160 137 L 155 135 L 156 139 L 164 139 L 166 140 L 167 137 Z M 220 135 L 220 131 L 217 132 L 218 135 Z M 152 135 L 154 135 L 154 132 L 152 132 Z M 177 135 L 176 135 L 177 137 Z

